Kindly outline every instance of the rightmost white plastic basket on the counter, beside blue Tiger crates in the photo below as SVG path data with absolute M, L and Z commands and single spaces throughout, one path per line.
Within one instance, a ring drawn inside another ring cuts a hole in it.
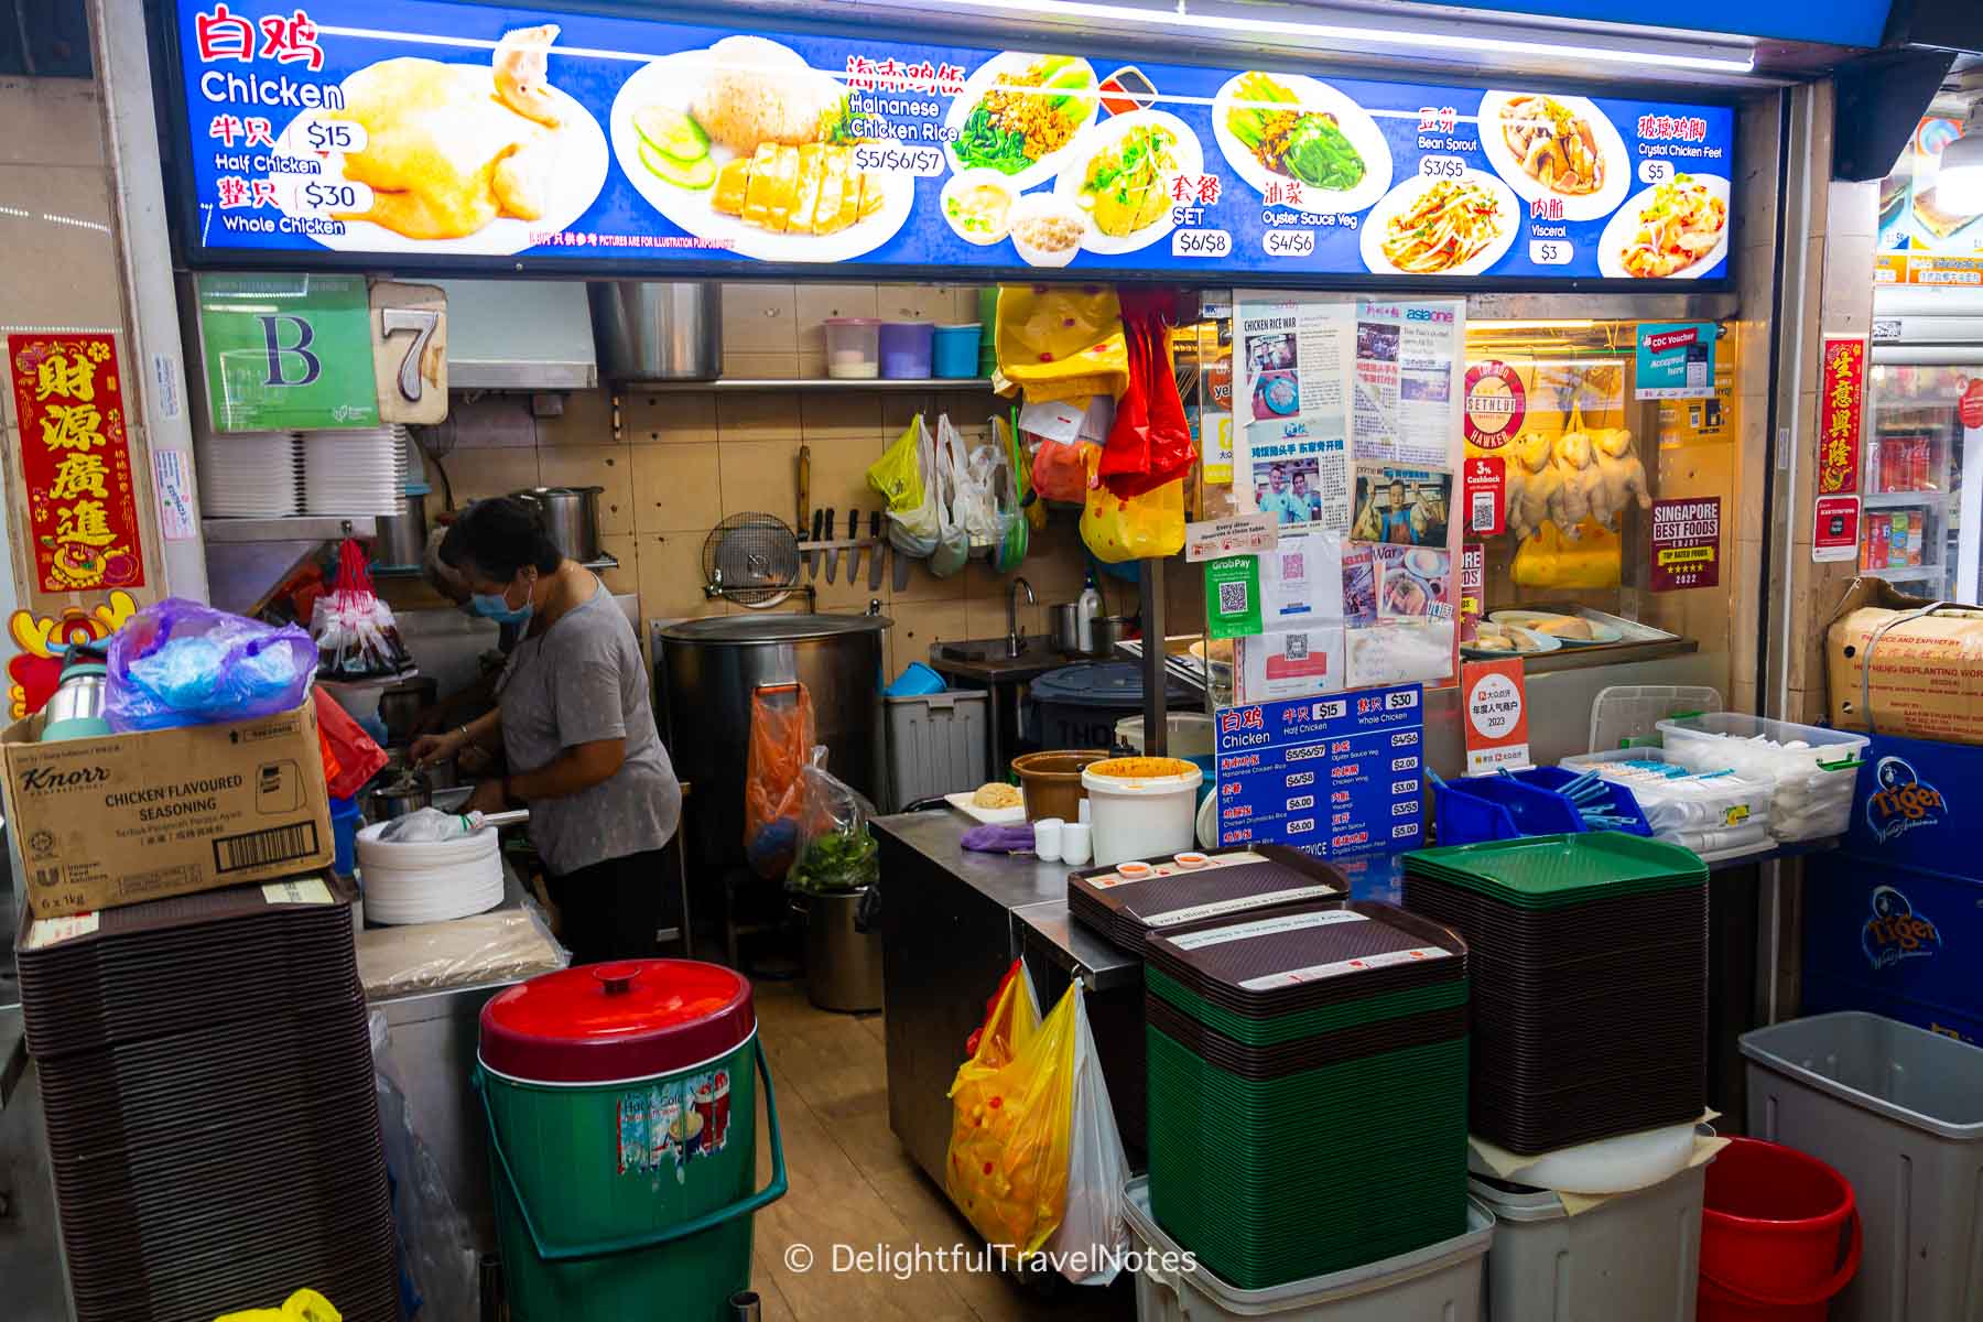
M 1866 735 L 1741 712 L 1660 721 L 1660 735 L 1666 751 L 1693 771 L 1731 767 L 1737 775 L 1775 779 L 1769 834 L 1777 840 L 1822 840 L 1844 834 L 1852 821 Z

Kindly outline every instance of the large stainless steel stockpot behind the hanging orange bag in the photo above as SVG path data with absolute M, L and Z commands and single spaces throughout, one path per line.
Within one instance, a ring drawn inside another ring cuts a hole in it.
M 744 858 L 752 698 L 805 684 L 827 767 L 882 803 L 880 614 L 726 614 L 656 624 L 654 714 L 674 773 L 692 785 L 692 848 L 706 866 Z

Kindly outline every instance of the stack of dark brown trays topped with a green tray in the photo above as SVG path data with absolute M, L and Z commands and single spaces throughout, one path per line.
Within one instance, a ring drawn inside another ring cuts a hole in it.
M 1519 1154 L 1707 1104 L 1707 868 L 1620 832 L 1404 858 L 1404 902 L 1473 955 L 1471 1130 Z

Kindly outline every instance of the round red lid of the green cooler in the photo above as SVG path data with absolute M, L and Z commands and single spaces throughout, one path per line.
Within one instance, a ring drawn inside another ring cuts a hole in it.
M 482 1062 L 510 1078 L 603 1084 L 672 1074 L 750 1041 L 750 981 L 694 959 L 585 963 L 482 1007 Z

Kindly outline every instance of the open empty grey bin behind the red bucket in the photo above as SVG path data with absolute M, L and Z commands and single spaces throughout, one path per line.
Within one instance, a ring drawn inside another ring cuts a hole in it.
M 1866 1257 L 1832 1322 L 1983 1322 L 1983 1050 L 1866 1013 L 1743 1033 L 1749 1134 L 1828 1161 Z

